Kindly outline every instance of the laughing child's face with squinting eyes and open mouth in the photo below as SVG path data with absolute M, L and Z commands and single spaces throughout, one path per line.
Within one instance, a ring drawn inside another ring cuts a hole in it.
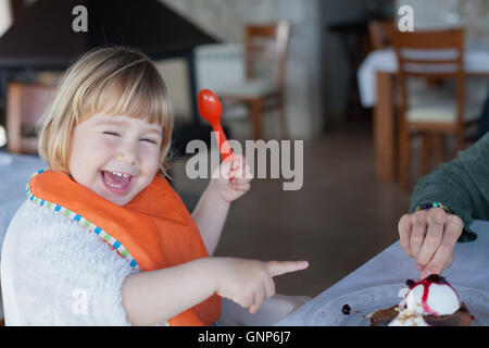
M 98 113 L 73 132 L 73 178 L 117 206 L 143 190 L 160 169 L 162 129 L 124 115 Z

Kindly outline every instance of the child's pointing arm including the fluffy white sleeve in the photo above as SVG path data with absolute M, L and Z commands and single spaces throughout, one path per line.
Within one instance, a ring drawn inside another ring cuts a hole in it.
M 18 325 L 155 325 L 214 293 L 256 311 L 275 291 L 273 276 L 306 266 L 204 258 L 134 273 L 96 234 L 27 200 L 9 226 L 1 277 Z

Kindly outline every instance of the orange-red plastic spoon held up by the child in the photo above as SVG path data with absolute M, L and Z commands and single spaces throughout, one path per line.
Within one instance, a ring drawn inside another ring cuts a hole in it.
M 220 146 L 221 158 L 224 162 L 229 156 L 233 156 L 233 150 L 227 142 L 226 135 L 221 126 L 221 114 L 223 112 L 221 101 L 212 90 L 202 89 L 197 98 L 197 105 L 200 115 L 211 124 L 214 132 L 217 132 L 217 142 Z

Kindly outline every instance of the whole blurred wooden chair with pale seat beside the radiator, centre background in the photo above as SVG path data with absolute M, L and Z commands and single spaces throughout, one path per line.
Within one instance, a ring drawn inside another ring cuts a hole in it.
M 268 25 L 247 25 L 244 28 L 244 77 L 242 84 L 226 86 L 216 94 L 224 103 L 248 107 L 253 137 L 262 138 L 262 117 L 278 109 L 280 136 L 287 138 L 285 115 L 286 58 L 290 24 L 286 21 Z M 263 64 L 260 71 L 260 64 Z M 266 64 L 267 67 L 263 69 Z M 264 71 L 273 76 L 266 78 Z

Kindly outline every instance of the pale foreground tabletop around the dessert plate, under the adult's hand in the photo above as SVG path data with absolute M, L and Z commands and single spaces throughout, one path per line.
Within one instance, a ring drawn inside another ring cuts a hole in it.
M 454 263 L 443 272 L 443 276 L 449 282 L 489 293 L 489 222 L 476 220 L 471 227 L 477 233 L 477 240 L 456 244 Z M 326 302 L 362 284 L 418 276 L 414 260 L 404 254 L 397 241 L 276 325 L 302 326 L 308 319 L 308 312 L 318 302 Z

